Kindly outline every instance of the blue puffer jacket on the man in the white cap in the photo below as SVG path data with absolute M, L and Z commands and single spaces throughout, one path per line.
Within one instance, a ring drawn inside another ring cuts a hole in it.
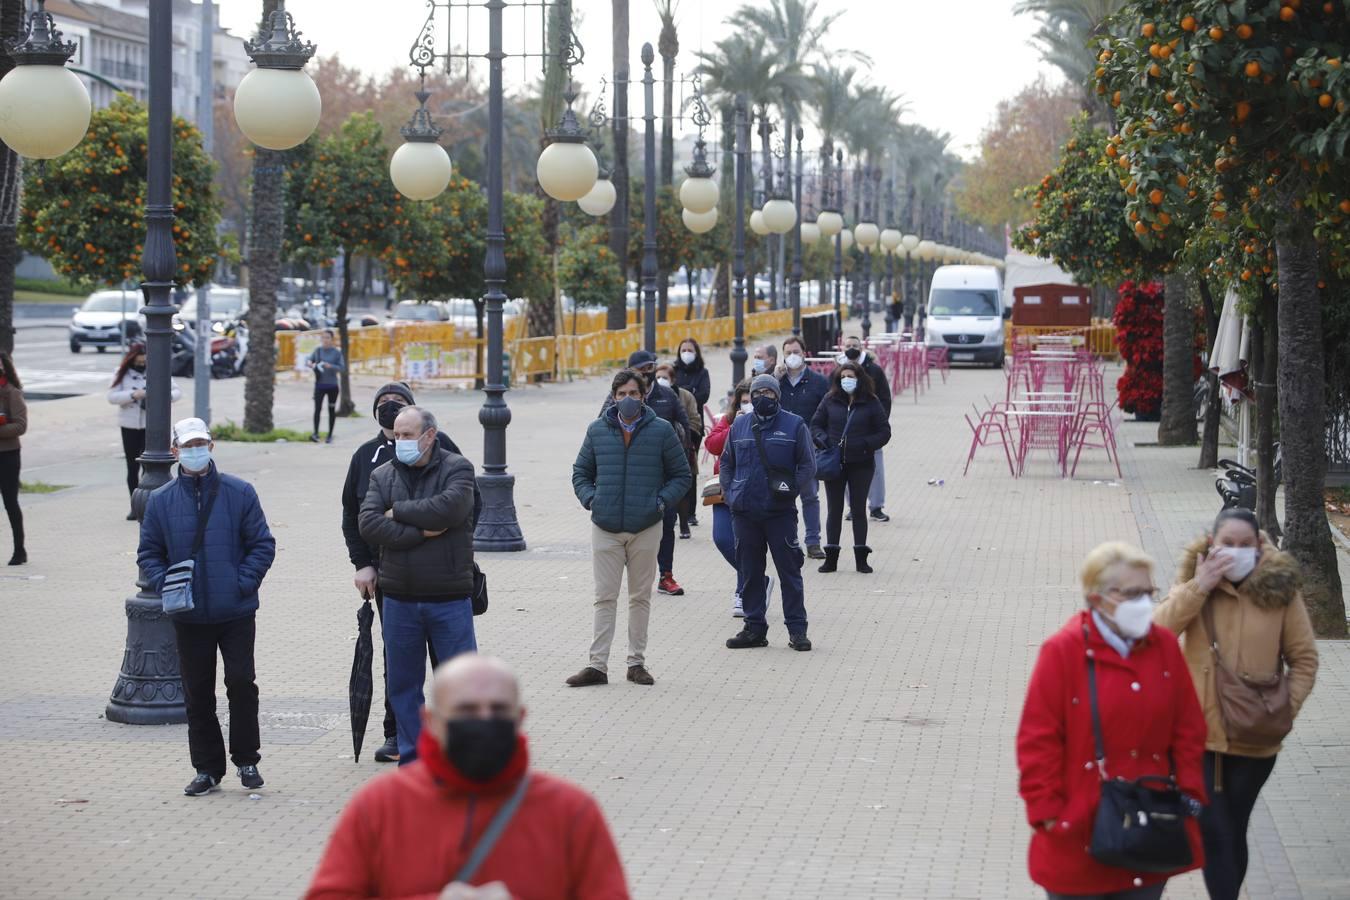
M 277 556 L 277 541 L 252 484 L 224 475 L 212 463 L 205 475 L 185 475 L 155 490 L 140 522 L 136 563 L 155 591 L 165 572 L 192 553 L 197 515 L 219 486 L 207 533 L 193 571 L 194 609 L 174 617 L 180 622 L 215 625 L 251 615 L 258 609 L 258 586 Z

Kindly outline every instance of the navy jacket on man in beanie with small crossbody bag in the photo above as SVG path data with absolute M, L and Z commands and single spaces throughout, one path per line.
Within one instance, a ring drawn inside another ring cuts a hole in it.
M 795 514 L 795 503 L 775 501 L 768 490 L 768 472 L 756 447 L 755 429 L 764 439 L 764 456 L 775 470 L 792 472 L 796 490 L 803 497 L 815 494 L 815 448 L 811 433 L 801 416 L 780 409 L 774 418 L 760 422 L 759 416 L 737 416 L 722 449 L 722 498 L 736 515 L 767 519 Z

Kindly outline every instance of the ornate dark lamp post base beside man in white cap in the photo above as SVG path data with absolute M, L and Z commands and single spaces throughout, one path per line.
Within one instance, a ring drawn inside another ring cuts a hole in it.
M 178 672 L 178 638 L 158 596 L 127 598 L 127 648 L 105 715 L 123 725 L 182 725 L 188 708 Z

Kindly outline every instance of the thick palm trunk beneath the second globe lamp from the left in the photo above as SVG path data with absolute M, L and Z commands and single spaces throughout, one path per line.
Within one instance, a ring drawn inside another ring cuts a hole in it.
M 265 4 L 271 5 L 271 4 Z M 244 359 L 244 430 L 273 429 L 277 378 L 277 287 L 281 283 L 286 154 L 254 148 L 252 223 L 248 229 L 248 356 Z

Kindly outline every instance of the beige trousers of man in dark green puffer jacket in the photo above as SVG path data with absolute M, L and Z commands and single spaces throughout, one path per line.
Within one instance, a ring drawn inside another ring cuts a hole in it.
M 656 548 L 662 524 L 641 532 L 606 532 L 591 525 L 591 563 L 595 568 L 595 640 L 593 669 L 609 671 L 609 646 L 614 642 L 618 588 L 628 569 L 628 665 L 643 665 L 647 622 L 652 615 L 652 582 L 656 579 Z

